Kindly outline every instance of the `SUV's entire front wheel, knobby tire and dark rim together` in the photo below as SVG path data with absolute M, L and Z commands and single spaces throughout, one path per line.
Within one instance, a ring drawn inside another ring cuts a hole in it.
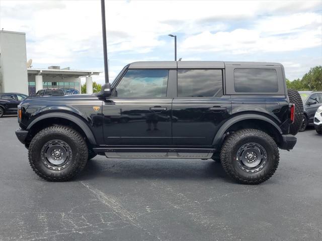
M 32 139 L 28 155 L 30 166 L 38 176 L 48 181 L 67 181 L 84 169 L 88 147 L 75 130 L 52 126 Z

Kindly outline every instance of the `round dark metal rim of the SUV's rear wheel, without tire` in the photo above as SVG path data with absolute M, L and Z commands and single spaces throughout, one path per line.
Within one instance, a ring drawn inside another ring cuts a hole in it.
M 236 154 L 238 166 L 245 172 L 255 173 L 264 168 L 267 163 L 267 152 L 258 143 L 246 143 Z

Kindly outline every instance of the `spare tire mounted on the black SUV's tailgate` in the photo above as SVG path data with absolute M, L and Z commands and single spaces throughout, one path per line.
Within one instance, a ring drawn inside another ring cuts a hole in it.
M 287 89 L 290 103 L 295 104 L 295 119 L 290 125 L 290 134 L 296 135 L 303 121 L 303 102 L 300 94 L 295 89 Z

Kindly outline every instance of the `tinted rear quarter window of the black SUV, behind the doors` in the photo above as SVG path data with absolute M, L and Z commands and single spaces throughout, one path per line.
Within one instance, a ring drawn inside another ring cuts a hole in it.
M 275 69 L 234 69 L 235 92 L 278 92 Z

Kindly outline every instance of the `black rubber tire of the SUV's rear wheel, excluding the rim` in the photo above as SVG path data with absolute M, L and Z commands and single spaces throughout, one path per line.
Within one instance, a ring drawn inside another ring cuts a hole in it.
M 248 143 L 261 145 L 266 151 L 265 165 L 257 172 L 248 172 L 240 167 L 238 150 Z M 279 163 L 279 151 L 274 140 L 265 132 L 256 129 L 243 129 L 231 134 L 224 142 L 220 161 L 225 172 L 235 181 L 243 184 L 259 184 L 275 173 Z

